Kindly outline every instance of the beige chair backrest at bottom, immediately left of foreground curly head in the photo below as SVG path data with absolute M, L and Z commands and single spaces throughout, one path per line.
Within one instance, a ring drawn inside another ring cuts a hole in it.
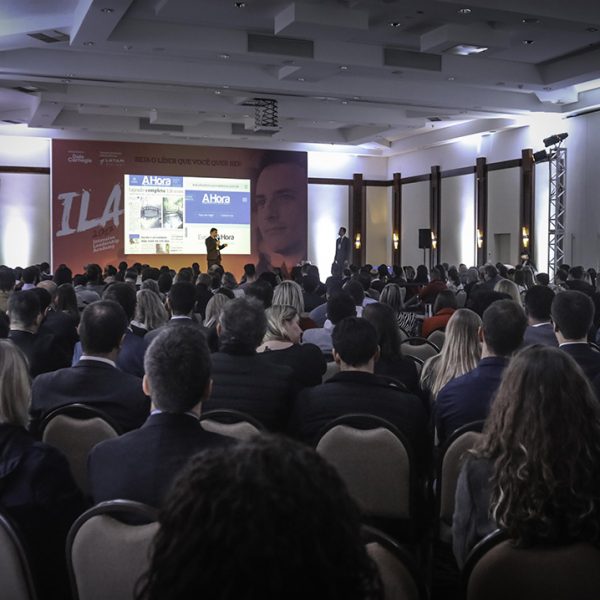
M 156 518 L 155 509 L 127 500 L 102 502 L 83 513 L 67 536 L 74 599 L 131 600 L 150 564 Z

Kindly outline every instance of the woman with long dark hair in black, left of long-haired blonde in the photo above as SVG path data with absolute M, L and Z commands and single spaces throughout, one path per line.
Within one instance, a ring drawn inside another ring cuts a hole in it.
M 412 358 L 402 356 L 400 331 L 392 308 L 379 302 L 369 304 L 365 306 L 363 318 L 377 332 L 379 360 L 375 363 L 375 374 L 393 377 L 404 384 L 409 392 L 418 393 L 417 365 Z

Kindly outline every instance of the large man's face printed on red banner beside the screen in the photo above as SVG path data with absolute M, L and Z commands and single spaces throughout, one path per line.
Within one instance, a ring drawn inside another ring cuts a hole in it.
M 263 169 L 256 182 L 256 217 L 266 250 L 298 251 L 306 237 L 306 177 L 299 165 Z

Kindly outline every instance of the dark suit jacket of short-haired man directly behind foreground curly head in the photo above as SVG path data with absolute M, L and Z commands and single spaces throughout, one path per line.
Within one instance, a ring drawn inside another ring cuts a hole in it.
M 153 414 L 140 429 L 101 442 L 90 452 L 94 503 L 125 498 L 160 507 L 191 456 L 231 443 L 231 438 L 204 431 L 191 415 Z

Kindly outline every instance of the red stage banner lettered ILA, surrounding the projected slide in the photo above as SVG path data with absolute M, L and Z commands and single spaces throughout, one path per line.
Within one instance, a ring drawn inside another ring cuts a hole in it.
M 204 242 L 196 254 L 124 253 L 126 174 L 251 181 L 251 254 L 223 251 L 225 270 L 290 269 L 306 258 L 306 153 L 127 142 L 54 140 L 52 143 L 52 265 L 74 272 L 86 264 L 125 260 L 174 269 L 206 268 Z M 168 245 L 167 245 L 168 246 Z

